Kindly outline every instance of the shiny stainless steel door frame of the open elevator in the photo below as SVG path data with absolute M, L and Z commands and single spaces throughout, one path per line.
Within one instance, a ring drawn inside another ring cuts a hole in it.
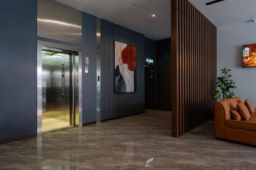
M 63 49 L 63 52 L 65 50 L 67 51 L 75 51 L 78 52 L 78 116 L 79 116 L 79 127 L 82 127 L 82 98 L 81 98 L 81 91 L 82 91 L 82 50 L 81 48 L 73 47 L 73 46 L 67 46 L 62 44 L 56 44 L 46 41 L 37 41 L 37 135 L 41 135 L 42 133 L 42 59 L 41 59 L 41 52 L 43 48 L 54 48 L 54 50 Z M 57 49 L 56 49 L 57 48 Z M 60 50 L 61 51 L 61 50 Z M 74 75 L 74 68 L 72 68 L 72 73 Z M 74 79 L 74 76 L 73 76 Z M 74 83 L 74 80 L 72 80 L 72 83 Z M 74 85 L 74 84 L 73 84 Z M 73 86 L 73 88 L 75 88 Z M 75 90 L 75 89 L 74 89 Z M 73 96 L 74 99 L 75 96 Z M 75 106 L 74 100 L 72 102 L 72 109 Z M 75 115 L 77 116 L 77 114 Z M 73 123 L 72 123 L 73 124 Z

